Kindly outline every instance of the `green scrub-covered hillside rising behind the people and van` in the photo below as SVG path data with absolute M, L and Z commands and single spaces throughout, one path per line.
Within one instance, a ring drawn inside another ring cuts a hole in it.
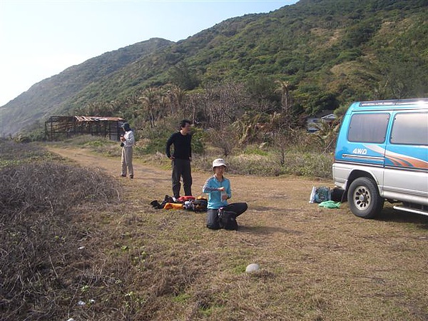
M 3 107 L 4 120 L 84 113 L 146 128 L 174 115 L 238 128 L 241 142 L 257 123 L 289 134 L 350 101 L 428 96 L 426 9 L 424 0 L 300 0 L 178 43 L 151 39 L 34 85 Z

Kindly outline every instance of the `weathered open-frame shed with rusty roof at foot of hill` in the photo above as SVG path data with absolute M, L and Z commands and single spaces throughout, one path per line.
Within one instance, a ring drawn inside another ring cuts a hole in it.
M 51 116 L 45 122 L 45 137 L 48 141 L 58 141 L 74 135 L 91 135 L 119 141 L 124 122 L 120 117 Z

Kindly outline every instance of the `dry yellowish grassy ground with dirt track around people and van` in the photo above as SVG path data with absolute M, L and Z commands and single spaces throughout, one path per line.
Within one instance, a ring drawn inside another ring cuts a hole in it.
M 118 158 L 52 151 L 118 176 Z M 308 203 L 312 186 L 329 180 L 228 175 L 232 200 L 249 209 L 238 232 L 213 231 L 203 213 L 151 208 L 170 193 L 170 171 L 135 167 L 134 180 L 120 180 L 120 204 L 79 205 L 64 221 L 66 238 L 40 277 L 50 285 L 44 300 L 8 317 L 1 287 L 1 320 L 428 319 L 428 218 L 387 208 L 363 220 L 346 203 Z M 194 195 L 208 175 L 194 171 Z M 250 263 L 260 270 L 246 273 Z

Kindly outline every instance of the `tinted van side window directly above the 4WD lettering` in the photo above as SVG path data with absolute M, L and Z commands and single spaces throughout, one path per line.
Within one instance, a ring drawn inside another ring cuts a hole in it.
M 356 113 L 351 118 L 348 141 L 383 143 L 388 122 L 389 113 Z

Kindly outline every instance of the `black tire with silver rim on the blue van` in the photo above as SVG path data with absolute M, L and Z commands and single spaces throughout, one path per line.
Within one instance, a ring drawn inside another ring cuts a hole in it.
M 351 212 L 360 218 L 374 218 L 382 210 L 384 203 L 376 183 L 367 177 L 357 178 L 351 183 L 347 200 Z

